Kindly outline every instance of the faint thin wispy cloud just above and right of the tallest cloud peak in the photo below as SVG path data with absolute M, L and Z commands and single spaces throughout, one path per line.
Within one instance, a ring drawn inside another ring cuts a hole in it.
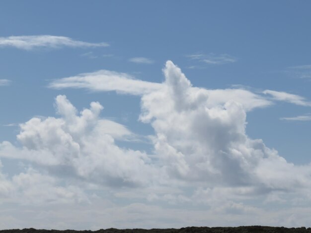
M 210 64 L 210 65 L 221 65 L 221 64 L 227 64 L 227 63 L 233 63 L 237 61 L 237 58 L 228 55 L 228 54 L 220 54 L 216 55 L 213 53 L 210 54 L 192 54 L 188 55 L 188 58 L 191 60 L 197 60 L 199 62 Z M 192 66 L 193 67 L 193 66 Z

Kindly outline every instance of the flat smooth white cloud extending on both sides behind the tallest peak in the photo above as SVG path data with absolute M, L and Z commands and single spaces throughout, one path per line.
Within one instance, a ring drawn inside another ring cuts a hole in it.
M 131 75 L 109 70 L 82 73 L 77 76 L 56 79 L 49 84 L 50 88 L 85 88 L 91 91 L 117 91 L 124 94 L 144 95 L 165 88 L 162 83 L 135 79 Z M 194 93 L 205 96 L 208 106 L 223 105 L 229 100 L 243 105 L 246 111 L 263 108 L 273 103 L 265 97 L 244 89 L 214 89 L 191 87 Z

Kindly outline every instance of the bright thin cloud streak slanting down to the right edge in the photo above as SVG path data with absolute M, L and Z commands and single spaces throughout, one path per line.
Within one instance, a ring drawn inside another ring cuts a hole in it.
M 301 105 L 301 106 L 311 106 L 311 102 L 307 101 L 306 98 L 290 94 L 287 92 L 281 92 L 281 91 L 272 91 L 272 90 L 265 90 L 262 92 L 263 94 L 271 95 L 274 100 L 277 101 L 284 101 L 295 105 Z

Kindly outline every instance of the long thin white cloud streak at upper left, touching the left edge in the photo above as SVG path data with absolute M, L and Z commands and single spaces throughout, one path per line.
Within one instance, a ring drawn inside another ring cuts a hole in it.
M 74 40 L 65 36 L 9 36 L 0 37 L 0 47 L 15 47 L 17 49 L 32 50 L 35 48 L 60 48 L 60 47 L 107 47 L 107 43 L 89 43 Z

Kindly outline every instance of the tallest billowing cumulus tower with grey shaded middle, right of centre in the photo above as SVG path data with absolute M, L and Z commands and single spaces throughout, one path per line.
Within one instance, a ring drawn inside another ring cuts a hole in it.
M 310 166 L 296 168 L 262 140 L 248 138 L 243 105 L 208 103 L 208 93 L 192 88 L 171 61 L 163 72 L 165 88 L 142 97 L 140 119 L 155 129 L 156 154 L 168 174 L 205 185 L 264 190 L 310 185 Z

